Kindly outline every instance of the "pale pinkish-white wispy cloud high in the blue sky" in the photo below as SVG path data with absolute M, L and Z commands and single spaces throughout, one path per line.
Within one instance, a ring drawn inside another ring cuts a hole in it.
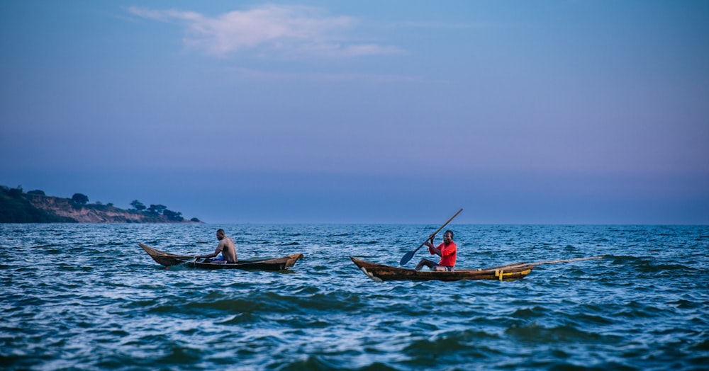
M 184 44 L 216 57 L 245 51 L 295 58 L 361 57 L 403 52 L 391 45 L 348 42 L 347 32 L 354 29 L 357 20 L 329 16 L 321 9 L 307 6 L 266 5 L 213 18 L 174 9 L 133 6 L 128 11 L 142 18 L 184 25 Z

